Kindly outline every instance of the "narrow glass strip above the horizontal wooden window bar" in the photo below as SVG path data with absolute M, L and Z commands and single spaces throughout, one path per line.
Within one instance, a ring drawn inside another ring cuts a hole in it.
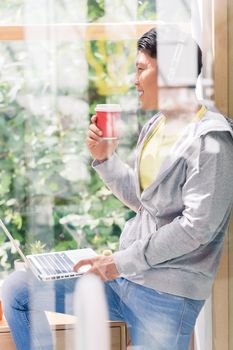
M 97 21 L 112 23 L 137 19 L 155 20 L 155 1 L 5 0 L 0 4 L 0 23 L 2 25 L 21 25 L 25 22 L 32 25 L 95 23 Z

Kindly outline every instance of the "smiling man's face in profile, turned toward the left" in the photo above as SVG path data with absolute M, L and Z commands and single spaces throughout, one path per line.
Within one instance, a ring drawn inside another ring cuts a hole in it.
M 137 55 L 134 84 L 139 94 L 141 108 L 157 109 L 157 61 L 143 51 L 139 51 Z

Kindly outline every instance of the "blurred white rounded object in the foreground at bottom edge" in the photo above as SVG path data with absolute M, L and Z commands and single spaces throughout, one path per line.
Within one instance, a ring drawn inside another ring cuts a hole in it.
M 95 275 L 85 275 L 77 283 L 74 295 L 76 350 L 110 350 L 108 310 L 104 286 Z

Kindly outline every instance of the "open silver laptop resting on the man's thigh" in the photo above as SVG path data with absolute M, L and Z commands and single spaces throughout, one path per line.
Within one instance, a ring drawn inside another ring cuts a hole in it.
M 80 277 L 90 268 L 90 265 L 81 267 L 77 272 L 73 271 L 74 265 L 82 259 L 97 256 L 96 252 L 91 248 L 25 256 L 1 219 L 0 227 L 25 262 L 25 267 L 29 268 L 41 281 Z

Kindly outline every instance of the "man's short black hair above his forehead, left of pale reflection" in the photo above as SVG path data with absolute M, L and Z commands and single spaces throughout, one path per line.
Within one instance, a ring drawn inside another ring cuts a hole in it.
M 152 58 L 157 58 L 157 30 L 150 29 L 137 42 L 138 51 L 145 51 Z

